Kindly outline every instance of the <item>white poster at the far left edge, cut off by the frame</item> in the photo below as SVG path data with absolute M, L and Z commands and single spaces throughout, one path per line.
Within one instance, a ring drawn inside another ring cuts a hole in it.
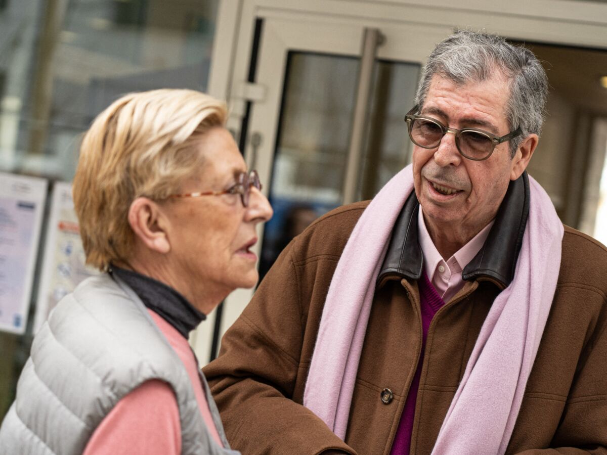
M 0 172 L 0 330 L 27 325 L 47 181 Z

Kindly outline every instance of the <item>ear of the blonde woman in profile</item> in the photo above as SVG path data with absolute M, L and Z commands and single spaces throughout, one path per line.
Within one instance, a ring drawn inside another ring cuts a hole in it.
M 141 243 L 152 251 L 166 254 L 171 243 L 166 231 L 165 215 L 154 201 L 138 197 L 129 207 L 129 224 Z

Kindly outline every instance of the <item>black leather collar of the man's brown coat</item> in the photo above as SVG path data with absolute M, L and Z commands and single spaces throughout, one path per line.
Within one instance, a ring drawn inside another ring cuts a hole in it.
M 419 202 L 413 191 L 396 219 L 379 271 L 378 285 L 393 275 L 409 280 L 421 278 L 424 255 L 418 242 L 418 211 Z M 468 281 L 487 279 L 506 288 L 514 278 L 528 215 L 529 178 L 527 172 L 523 172 L 521 177 L 510 182 L 489 237 L 464 268 L 462 278 Z

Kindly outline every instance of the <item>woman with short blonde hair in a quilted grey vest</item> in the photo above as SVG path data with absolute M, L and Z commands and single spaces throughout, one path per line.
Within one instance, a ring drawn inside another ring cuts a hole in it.
M 254 286 L 256 226 L 272 209 L 191 90 L 118 99 L 83 139 L 73 198 L 87 263 L 36 334 L 2 454 L 236 454 L 188 333 Z

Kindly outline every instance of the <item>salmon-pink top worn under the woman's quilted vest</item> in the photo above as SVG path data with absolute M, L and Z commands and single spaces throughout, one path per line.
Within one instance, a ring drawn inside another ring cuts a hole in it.
M 173 326 L 148 309 L 181 362 L 189 379 L 209 433 L 223 447 L 213 422 L 205 391 L 198 376 L 198 363 L 186 340 Z M 123 397 L 103 419 L 87 443 L 84 455 L 179 455 L 181 424 L 173 389 L 161 380 L 149 380 Z

